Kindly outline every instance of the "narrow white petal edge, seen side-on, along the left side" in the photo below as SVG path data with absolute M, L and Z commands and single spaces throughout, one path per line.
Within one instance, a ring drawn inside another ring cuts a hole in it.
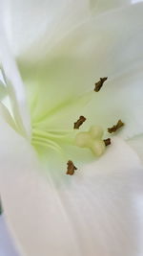
M 31 134 L 31 121 L 27 109 L 25 86 L 12 57 L 1 18 L 0 21 L 0 76 L 3 79 L 7 95 L 10 97 L 10 107 L 14 121 L 21 132 L 27 136 L 27 133 Z

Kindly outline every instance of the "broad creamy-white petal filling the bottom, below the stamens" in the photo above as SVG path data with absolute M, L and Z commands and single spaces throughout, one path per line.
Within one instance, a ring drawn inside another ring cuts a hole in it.
M 55 182 L 23 138 L 7 125 L 0 136 L 1 196 L 21 255 L 139 255 L 142 169 L 127 144 L 114 139 L 103 157 Z

